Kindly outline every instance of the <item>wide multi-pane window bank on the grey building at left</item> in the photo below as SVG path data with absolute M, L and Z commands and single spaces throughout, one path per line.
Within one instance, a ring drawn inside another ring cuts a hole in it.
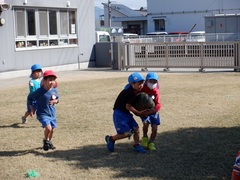
M 77 45 L 76 11 L 15 8 L 16 49 Z

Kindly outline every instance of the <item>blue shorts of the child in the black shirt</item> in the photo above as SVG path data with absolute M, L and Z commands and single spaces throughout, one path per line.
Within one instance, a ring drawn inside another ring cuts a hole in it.
M 129 133 L 138 127 L 131 113 L 115 109 L 113 111 L 113 123 L 118 134 Z

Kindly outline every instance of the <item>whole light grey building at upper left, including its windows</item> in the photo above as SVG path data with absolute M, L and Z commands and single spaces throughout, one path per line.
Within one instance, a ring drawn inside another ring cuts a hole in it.
M 0 0 L 0 73 L 94 65 L 94 0 Z

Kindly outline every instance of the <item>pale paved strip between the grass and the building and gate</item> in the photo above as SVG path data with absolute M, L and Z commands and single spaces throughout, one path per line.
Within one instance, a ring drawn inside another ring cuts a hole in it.
M 150 69 L 151 70 L 151 69 Z M 102 78 L 114 78 L 114 77 L 128 77 L 132 72 L 141 72 L 143 75 L 147 71 L 141 71 L 140 68 L 130 69 L 128 71 L 112 70 L 110 68 L 88 68 L 88 69 L 75 69 L 75 70 L 65 70 L 65 71 L 55 71 L 58 76 L 58 82 L 72 81 L 75 79 L 102 79 Z M 153 69 L 152 71 L 157 71 L 158 73 L 169 73 L 163 70 Z M 233 72 L 233 70 L 226 69 L 208 69 L 206 72 Z M 6 77 L 0 76 L 0 89 L 23 87 L 26 86 L 29 81 L 29 71 L 25 71 L 24 74 L 18 77 Z M 200 73 L 197 69 L 171 69 L 169 74 L 176 73 Z M 2 77 L 2 78 L 1 78 Z

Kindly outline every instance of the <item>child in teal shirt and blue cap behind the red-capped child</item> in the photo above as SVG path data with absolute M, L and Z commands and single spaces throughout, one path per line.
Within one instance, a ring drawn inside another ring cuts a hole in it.
M 29 81 L 29 94 L 36 91 L 38 88 L 40 88 L 41 84 L 41 77 L 42 77 L 42 67 L 39 64 L 34 64 L 31 67 L 32 73 L 30 75 L 31 80 Z M 33 108 L 36 110 L 37 103 L 33 102 Z M 30 114 L 30 107 L 27 105 L 27 111 L 25 112 L 24 116 L 22 116 L 22 123 L 27 123 L 27 117 Z

